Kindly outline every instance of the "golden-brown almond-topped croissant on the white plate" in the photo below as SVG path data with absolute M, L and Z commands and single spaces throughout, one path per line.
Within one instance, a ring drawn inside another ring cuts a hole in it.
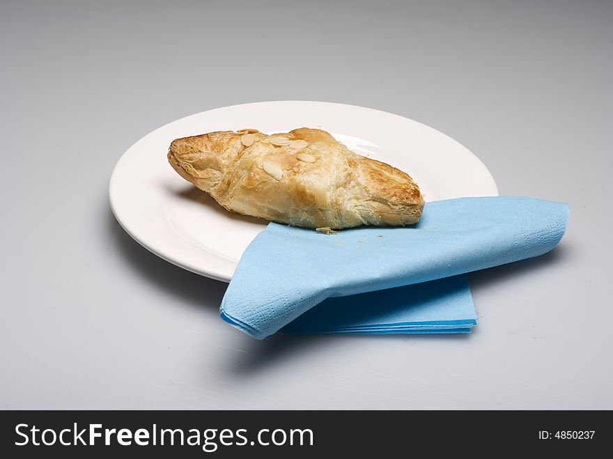
M 227 210 L 293 226 L 403 226 L 417 223 L 424 208 L 406 173 L 357 155 L 318 129 L 175 139 L 168 160 Z

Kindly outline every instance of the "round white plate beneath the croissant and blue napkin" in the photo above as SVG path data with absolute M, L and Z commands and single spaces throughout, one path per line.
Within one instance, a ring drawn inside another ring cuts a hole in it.
M 175 265 L 230 281 L 243 251 L 267 222 L 224 210 L 180 178 L 166 152 L 178 137 L 244 127 L 327 130 L 356 153 L 407 172 L 426 201 L 498 194 L 490 171 L 475 155 L 417 121 L 329 102 L 258 102 L 187 116 L 134 143 L 117 162 L 109 184 L 111 208 L 125 231 Z

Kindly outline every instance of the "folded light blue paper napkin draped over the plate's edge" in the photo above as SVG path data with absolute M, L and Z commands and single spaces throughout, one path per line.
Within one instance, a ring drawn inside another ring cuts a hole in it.
M 411 286 L 545 254 L 564 235 L 567 222 L 566 203 L 504 196 L 426 203 L 419 223 L 405 228 L 362 227 L 326 235 L 305 228 L 270 224 L 243 254 L 222 300 L 221 316 L 243 332 L 263 339 L 327 298 Z M 442 296 L 447 295 L 448 290 L 453 291 L 452 284 L 443 283 L 442 286 L 445 287 Z M 426 297 L 430 292 L 430 303 L 447 304 L 445 307 L 451 311 L 450 302 L 444 298 L 441 299 L 443 303 L 431 298 L 436 296 L 431 286 L 420 288 L 426 289 Z M 467 286 L 463 290 L 466 293 Z M 410 300 L 411 292 L 399 289 L 386 294 L 396 295 L 389 300 L 403 297 Z M 458 297 L 465 298 L 465 295 Z M 370 299 L 372 304 L 387 301 L 373 301 L 373 298 Z M 345 311 L 343 317 L 346 318 L 351 301 L 340 301 L 336 303 L 340 308 L 334 309 Z M 356 311 L 359 311 L 359 302 L 355 303 Z M 457 303 L 451 301 L 451 306 L 454 304 Z M 334 320 L 327 325 L 327 322 L 320 322 L 326 317 L 325 309 L 322 313 L 318 309 L 311 311 L 302 325 L 305 329 L 307 325 L 318 328 L 320 332 L 327 329 L 364 332 L 372 325 L 371 332 L 380 333 L 430 322 L 428 318 L 421 320 L 424 317 L 405 320 L 408 309 L 415 305 L 405 306 L 404 316 L 398 316 L 401 322 L 369 324 L 367 320 L 359 322 L 356 313 L 357 322 L 343 324 L 338 321 L 339 313 L 334 313 L 330 317 L 337 317 L 336 325 Z M 465 309 L 463 312 L 460 316 L 465 316 Z M 388 317 L 392 316 L 393 313 L 389 313 Z M 450 322 L 465 319 L 454 313 L 449 316 Z M 439 317 L 433 322 L 440 320 L 445 319 Z M 427 326 L 428 323 L 424 324 Z M 292 330 L 296 332 L 297 328 L 290 325 L 287 331 Z

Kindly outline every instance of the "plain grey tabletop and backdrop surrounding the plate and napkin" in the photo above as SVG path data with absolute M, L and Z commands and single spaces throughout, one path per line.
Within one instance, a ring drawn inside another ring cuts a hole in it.
M 0 407 L 613 408 L 613 2 L 419 3 L 3 1 Z M 262 100 L 431 125 L 568 232 L 472 275 L 470 336 L 250 339 L 107 187 L 156 127 Z

